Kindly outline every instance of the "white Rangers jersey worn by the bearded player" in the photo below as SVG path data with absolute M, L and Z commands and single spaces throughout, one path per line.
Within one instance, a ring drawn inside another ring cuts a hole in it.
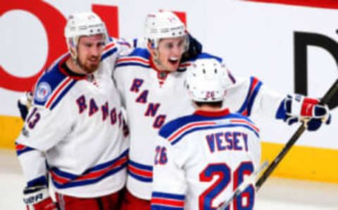
M 39 78 L 16 140 L 27 186 L 46 183 L 49 170 L 54 190 L 73 197 L 123 188 L 129 137 L 123 136 L 120 97 L 111 80 L 121 50 L 117 42 L 107 44 L 91 75 L 70 74 L 65 54 Z

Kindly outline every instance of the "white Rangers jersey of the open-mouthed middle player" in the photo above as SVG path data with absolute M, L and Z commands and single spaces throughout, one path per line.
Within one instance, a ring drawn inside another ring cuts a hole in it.
M 220 58 L 201 54 L 198 59 Z M 130 162 L 127 189 L 142 199 L 151 198 L 152 171 L 156 137 L 164 123 L 194 112 L 191 100 L 184 88 L 183 63 L 176 72 L 156 70 L 149 51 L 134 49 L 116 63 L 114 78 L 127 112 L 130 126 Z M 250 116 L 265 114 L 271 118 L 279 113 L 284 97 L 271 92 L 256 78 L 237 80 L 229 73 L 233 85 L 227 89 L 226 107 L 232 112 Z M 278 111 L 277 111 L 278 110 Z

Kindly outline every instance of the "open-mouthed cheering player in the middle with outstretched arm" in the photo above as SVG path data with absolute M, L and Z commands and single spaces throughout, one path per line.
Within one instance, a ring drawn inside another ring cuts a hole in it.
M 180 63 L 189 44 L 184 24 L 175 14 L 163 11 L 150 13 L 145 29 L 147 49 L 134 49 L 128 56 L 119 58 L 113 73 L 130 126 L 125 210 L 150 209 L 158 130 L 163 123 L 194 111 L 183 85 L 184 68 L 189 62 Z M 210 57 L 221 62 L 220 58 L 209 54 L 197 58 Z M 230 73 L 228 76 L 230 80 L 225 82 L 232 84 L 227 88 L 224 104 L 244 116 L 264 114 L 289 123 L 307 116 L 313 118 L 313 126 L 309 128 L 315 130 L 322 123 L 320 118 L 328 114 L 325 106 L 316 105 L 318 101 L 281 96 L 256 78 L 235 80 Z

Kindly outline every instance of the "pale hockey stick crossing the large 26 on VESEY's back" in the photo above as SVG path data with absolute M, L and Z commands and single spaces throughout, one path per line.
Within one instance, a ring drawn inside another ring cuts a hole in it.
M 218 207 L 217 210 L 223 210 L 229 205 L 234 198 L 236 198 L 239 194 L 241 194 L 244 190 L 246 190 L 246 187 L 249 187 L 249 185 L 255 183 L 256 177 L 259 173 L 261 173 L 266 167 L 268 167 L 269 162 L 265 160 L 259 168 L 251 173 L 249 177 L 247 177 L 237 188 L 232 192 L 232 195 L 229 199 L 227 199 L 221 206 Z

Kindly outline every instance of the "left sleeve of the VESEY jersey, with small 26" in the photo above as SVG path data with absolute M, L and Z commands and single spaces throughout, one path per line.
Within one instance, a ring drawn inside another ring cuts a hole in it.
M 158 137 L 155 148 L 151 209 L 184 209 L 185 173 L 175 161 L 175 148 Z

